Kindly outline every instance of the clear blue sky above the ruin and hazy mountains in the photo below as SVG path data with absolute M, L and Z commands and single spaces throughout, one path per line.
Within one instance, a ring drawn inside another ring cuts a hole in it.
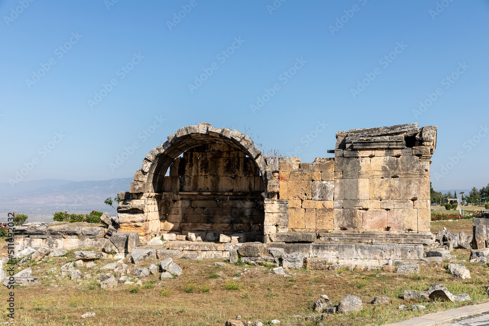
M 435 189 L 489 182 L 487 0 L 0 0 L 0 14 L 0 182 L 131 177 L 199 122 L 305 162 L 339 130 L 436 125 Z

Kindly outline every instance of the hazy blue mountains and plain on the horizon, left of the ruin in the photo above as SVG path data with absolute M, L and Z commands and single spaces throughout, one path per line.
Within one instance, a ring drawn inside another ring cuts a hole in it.
M 7 213 L 26 214 L 29 221 L 52 220 L 54 212 L 87 214 L 91 210 L 115 215 L 115 209 L 104 203 L 120 191 L 128 191 L 133 178 L 69 181 L 44 179 L 21 182 L 12 189 L 0 183 L 0 221 Z M 116 205 L 114 205 L 116 206 Z

